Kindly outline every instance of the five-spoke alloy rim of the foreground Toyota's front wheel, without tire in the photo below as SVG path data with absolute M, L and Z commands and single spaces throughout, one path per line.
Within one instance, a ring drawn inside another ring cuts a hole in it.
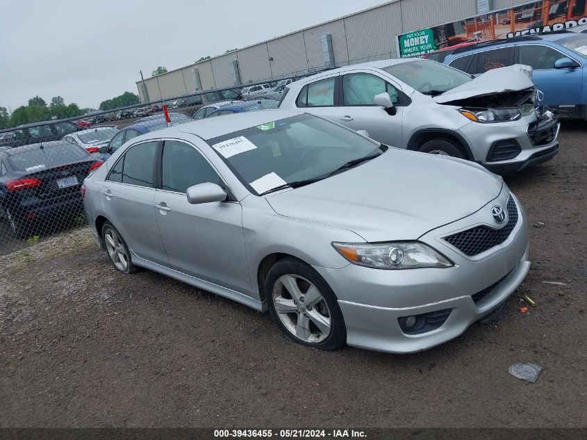
M 331 313 L 324 297 L 307 279 L 283 275 L 273 287 L 273 304 L 281 323 L 301 341 L 320 343 L 331 332 Z

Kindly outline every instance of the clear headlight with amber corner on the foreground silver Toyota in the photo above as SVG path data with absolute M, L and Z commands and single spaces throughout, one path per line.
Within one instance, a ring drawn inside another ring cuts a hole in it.
M 336 243 L 332 246 L 358 266 L 377 269 L 448 268 L 453 266 L 432 247 L 408 241 L 402 243 Z

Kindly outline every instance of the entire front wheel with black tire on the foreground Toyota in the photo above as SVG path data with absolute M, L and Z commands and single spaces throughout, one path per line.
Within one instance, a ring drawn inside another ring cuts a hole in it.
M 308 264 L 293 258 L 275 263 L 265 280 L 265 299 L 288 339 L 320 350 L 345 345 L 347 329 L 336 295 Z

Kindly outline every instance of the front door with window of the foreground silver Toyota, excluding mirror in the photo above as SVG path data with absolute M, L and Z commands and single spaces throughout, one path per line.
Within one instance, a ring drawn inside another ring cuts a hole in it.
M 206 182 L 222 184 L 206 158 L 188 143 L 166 140 L 154 206 L 171 267 L 250 295 L 242 206 L 233 201 L 190 204 L 185 197 L 190 186 Z

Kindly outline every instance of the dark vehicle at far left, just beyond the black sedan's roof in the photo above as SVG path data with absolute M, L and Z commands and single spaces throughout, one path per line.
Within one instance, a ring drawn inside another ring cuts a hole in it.
M 7 140 L 0 140 L 0 147 L 21 147 L 35 142 L 60 140 L 69 133 L 84 130 L 73 122 L 35 122 L 34 124 L 20 125 L 12 131 L 1 133 Z

